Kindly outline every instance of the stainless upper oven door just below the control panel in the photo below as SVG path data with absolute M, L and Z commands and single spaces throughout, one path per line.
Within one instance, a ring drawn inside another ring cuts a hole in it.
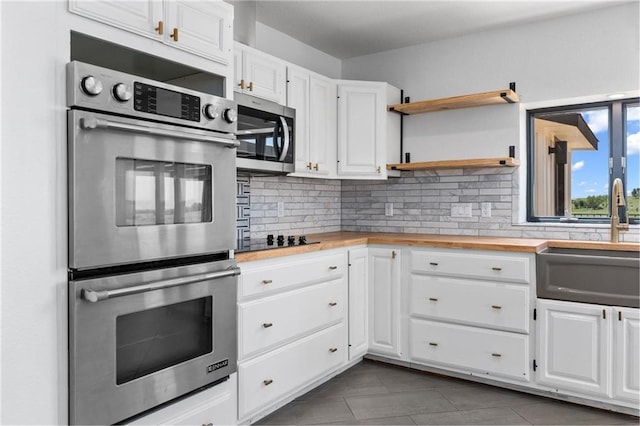
M 233 249 L 233 138 L 72 110 L 69 266 Z

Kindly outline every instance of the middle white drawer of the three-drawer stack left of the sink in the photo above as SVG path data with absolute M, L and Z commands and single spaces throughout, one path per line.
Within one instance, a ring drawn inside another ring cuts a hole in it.
M 529 332 L 528 286 L 412 274 L 409 291 L 412 315 Z

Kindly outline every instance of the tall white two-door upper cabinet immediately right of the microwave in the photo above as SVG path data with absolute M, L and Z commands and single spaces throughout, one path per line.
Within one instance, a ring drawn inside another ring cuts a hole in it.
M 336 96 L 334 80 L 287 67 L 287 106 L 296 110 L 296 175 L 336 177 Z

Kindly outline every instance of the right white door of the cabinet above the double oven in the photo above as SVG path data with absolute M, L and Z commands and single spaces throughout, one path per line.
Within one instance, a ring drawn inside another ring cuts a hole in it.
M 225 65 L 231 63 L 233 6 L 219 0 L 167 1 L 165 18 L 166 43 Z

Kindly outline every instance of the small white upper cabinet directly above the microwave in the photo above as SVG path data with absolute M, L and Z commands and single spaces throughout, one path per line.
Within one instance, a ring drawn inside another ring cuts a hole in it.
M 284 105 L 285 62 L 240 43 L 234 46 L 234 90 Z

